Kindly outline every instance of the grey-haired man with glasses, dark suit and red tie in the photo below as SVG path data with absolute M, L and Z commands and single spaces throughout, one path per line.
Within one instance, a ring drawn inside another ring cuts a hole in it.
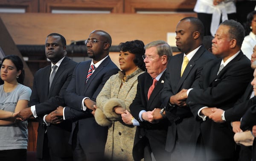
M 147 73 L 138 76 L 137 94 L 130 105 L 132 116 L 140 122 L 137 126 L 133 157 L 135 161 L 151 159 L 151 152 L 157 161 L 168 157 L 165 151 L 167 120 L 152 122 L 154 108 L 160 108 L 160 91 L 163 88 L 164 75 L 172 48 L 165 41 L 154 41 L 145 45 L 145 66 Z M 157 83 L 148 98 L 153 79 Z

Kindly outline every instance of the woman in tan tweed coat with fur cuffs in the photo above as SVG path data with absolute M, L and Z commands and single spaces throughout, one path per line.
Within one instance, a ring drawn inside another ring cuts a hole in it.
M 96 99 L 94 117 L 108 126 L 105 157 L 113 161 L 133 161 L 132 149 L 136 120 L 129 106 L 137 93 L 137 77 L 145 71 L 144 43 L 140 40 L 121 43 L 119 64 L 122 71 L 111 76 Z

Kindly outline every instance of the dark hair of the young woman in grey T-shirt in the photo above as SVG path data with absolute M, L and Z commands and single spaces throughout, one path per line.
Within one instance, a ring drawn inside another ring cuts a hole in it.
M 17 55 L 7 55 L 6 57 L 3 58 L 2 60 L 2 64 L 1 66 L 3 65 L 3 61 L 5 59 L 8 59 L 8 60 L 11 60 L 12 63 L 15 65 L 15 67 L 17 68 L 17 71 L 21 71 L 20 75 L 19 75 L 19 78 L 17 78 L 17 82 L 20 83 L 20 84 L 23 84 L 24 82 L 24 77 L 25 77 L 25 72 L 23 70 L 23 62 L 22 60 L 20 59 L 19 56 Z M 3 80 L 1 80 L 3 81 Z

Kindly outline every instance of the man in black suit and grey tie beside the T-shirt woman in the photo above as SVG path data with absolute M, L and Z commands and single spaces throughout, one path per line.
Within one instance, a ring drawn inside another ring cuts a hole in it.
M 51 65 L 35 73 L 29 103 L 31 107 L 21 110 L 19 115 L 23 120 L 31 116 L 38 118 L 38 160 L 72 161 L 72 150 L 68 144 L 72 122 L 62 121 L 49 113 L 60 105 L 65 106 L 64 93 L 77 63 L 66 56 L 66 40 L 60 34 L 52 33 L 47 36 L 45 55 Z M 53 65 L 57 68 L 53 69 Z M 49 79 L 53 73 L 55 76 L 49 87 Z

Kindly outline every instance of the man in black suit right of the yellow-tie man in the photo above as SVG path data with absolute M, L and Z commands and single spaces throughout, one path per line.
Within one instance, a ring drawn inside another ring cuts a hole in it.
M 200 122 L 201 150 L 204 161 L 233 161 L 235 142 L 229 123 L 215 123 L 209 119 L 210 107 L 227 110 L 241 97 L 249 83 L 252 70 L 250 60 L 241 52 L 243 26 L 226 20 L 218 27 L 212 40 L 212 53 L 220 59 L 208 62 L 192 88 L 182 93 L 193 115 Z M 199 156 L 198 156 L 199 157 Z

